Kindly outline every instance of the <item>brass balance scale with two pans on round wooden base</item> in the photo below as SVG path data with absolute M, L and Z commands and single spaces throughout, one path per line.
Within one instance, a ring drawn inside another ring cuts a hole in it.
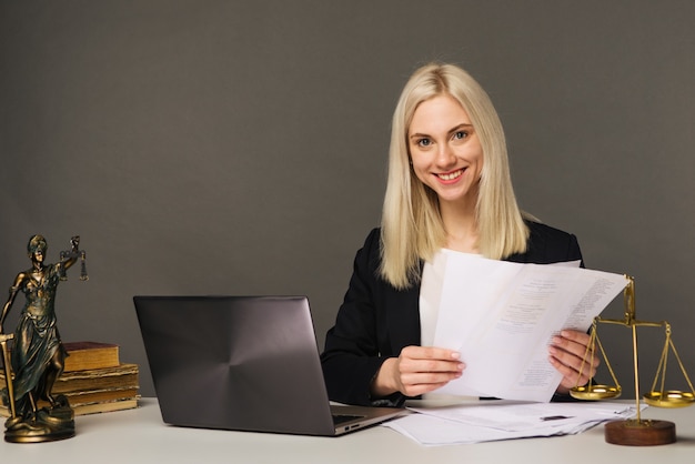
M 625 319 L 623 320 L 611 320 L 611 319 L 602 319 L 595 317 L 592 330 L 591 330 L 591 341 L 586 349 L 586 353 L 584 355 L 584 361 L 582 362 L 582 369 L 580 370 L 580 375 L 582 370 L 584 369 L 585 363 L 590 359 L 591 353 L 596 353 L 596 347 L 601 351 L 601 354 L 605 361 L 606 367 L 611 372 L 613 377 L 614 385 L 602 385 L 594 384 L 593 380 L 585 386 L 575 386 L 571 390 L 571 394 L 573 397 L 578 400 L 610 400 L 616 399 L 621 395 L 621 385 L 617 382 L 615 373 L 613 372 L 613 367 L 608 362 L 606 353 L 598 340 L 597 335 L 597 325 L 600 323 L 607 324 L 618 324 L 629 327 L 632 330 L 632 341 L 633 341 L 633 361 L 634 361 L 634 374 L 635 374 L 635 401 L 637 406 L 637 414 L 635 418 L 623 420 L 623 421 L 612 421 L 605 425 L 605 440 L 608 443 L 617 444 L 617 445 L 633 445 L 633 446 L 652 446 L 652 445 L 663 445 L 668 443 L 674 443 L 676 441 L 676 426 L 673 422 L 668 421 L 658 421 L 658 420 L 642 420 L 639 414 L 639 375 L 637 369 L 637 327 L 638 326 L 649 326 L 649 327 L 664 327 L 666 334 L 666 341 L 664 343 L 664 349 L 662 351 L 662 355 L 659 359 L 658 367 L 656 370 L 656 375 L 654 377 L 654 383 L 652 384 L 652 390 L 644 395 L 644 402 L 649 406 L 655 407 L 685 407 L 695 403 L 695 389 L 693 389 L 693 383 L 687 376 L 685 372 L 685 367 L 683 366 L 683 362 L 678 356 L 678 352 L 676 351 L 675 345 L 673 344 L 673 340 L 671 337 L 671 325 L 666 321 L 661 322 L 648 322 L 648 321 L 638 321 L 635 317 L 635 281 L 631 276 L 626 276 L 628 280 L 627 285 L 624 291 L 624 301 L 625 301 Z M 683 375 L 691 387 L 689 392 L 677 391 L 677 390 L 665 390 L 664 383 L 666 380 L 666 364 L 668 361 L 668 352 L 672 351 Z

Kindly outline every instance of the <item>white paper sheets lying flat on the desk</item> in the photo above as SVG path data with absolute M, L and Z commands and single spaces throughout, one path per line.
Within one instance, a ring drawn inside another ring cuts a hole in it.
M 427 446 L 573 435 L 602 422 L 636 414 L 634 404 L 604 402 L 488 402 L 411 410 L 417 414 L 396 418 L 384 426 Z

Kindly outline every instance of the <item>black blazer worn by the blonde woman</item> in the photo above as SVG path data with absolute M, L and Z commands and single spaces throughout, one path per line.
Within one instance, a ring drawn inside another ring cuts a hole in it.
M 507 261 L 550 264 L 582 260 L 574 235 L 527 222 L 525 253 Z M 353 274 L 335 325 L 328 332 L 321 364 L 332 401 L 361 405 L 400 405 L 402 394 L 372 401 L 370 384 L 381 364 L 405 346 L 420 345 L 420 283 L 396 290 L 379 276 L 380 230 L 357 251 Z M 582 263 L 583 265 L 583 263 Z

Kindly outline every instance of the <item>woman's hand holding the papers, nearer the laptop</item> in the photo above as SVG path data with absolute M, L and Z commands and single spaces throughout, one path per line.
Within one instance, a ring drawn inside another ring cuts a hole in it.
M 406 346 L 399 357 L 384 361 L 372 382 L 372 396 L 387 396 L 395 392 L 417 396 L 432 392 L 462 375 L 465 364 L 460 357 L 452 350 Z

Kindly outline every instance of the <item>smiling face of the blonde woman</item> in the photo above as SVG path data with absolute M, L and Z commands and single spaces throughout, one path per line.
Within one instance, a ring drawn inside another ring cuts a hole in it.
M 407 145 L 417 179 L 440 202 L 477 201 L 483 149 L 469 114 L 447 94 L 425 100 L 415 110 Z

